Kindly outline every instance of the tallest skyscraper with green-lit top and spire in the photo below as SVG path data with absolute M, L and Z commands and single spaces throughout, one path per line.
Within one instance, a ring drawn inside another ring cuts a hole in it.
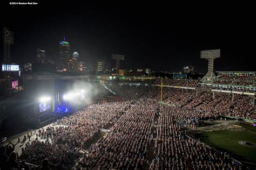
M 70 60 L 70 46 L 69 42 L 63 41 L 59 42 L 59 56 L 60 56 L 60 69 L 69 70 L 69 60 Z

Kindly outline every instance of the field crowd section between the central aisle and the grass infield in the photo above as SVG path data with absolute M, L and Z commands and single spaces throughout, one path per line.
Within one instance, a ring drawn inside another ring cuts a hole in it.
M 185 137 L 186 126 L 194 126 L 198 118 L 214 115 L 160 106 L 154 159 L 150 169 L 238 169 L 240 164 L 198 141 Z

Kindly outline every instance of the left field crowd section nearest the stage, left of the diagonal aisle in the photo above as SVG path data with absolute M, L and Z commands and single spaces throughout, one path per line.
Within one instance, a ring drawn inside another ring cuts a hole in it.
M 36 133 L 36 139 L 22 148 L 19 160 L 41 165 L 47 158 L 51 169 L 66 168 L 83 145 L 127 108 L 127 102 L 93 104 L 64 117 Z

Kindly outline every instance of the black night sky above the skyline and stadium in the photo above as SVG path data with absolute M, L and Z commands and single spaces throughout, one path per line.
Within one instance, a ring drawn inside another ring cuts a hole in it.
M 34 2 L 38 5 L 1 4 L 1 27 L 15 33 L 12 62 L 35 61 L 41 46 L 59 63 L 58 44 L 65 36 L 71 53 L 78 52 L 89 68 L 96 67 L 97 59 L 112 68 L 111 54 L 124 54 L 120 68 L 180 71 L 192 65 L 205 73 L 207 60 L 200 59 L 200 51 L 220 48 L 215 70 L 256 71 L 250 4 Z M 0 56 L 2 62 L 2 32 Z

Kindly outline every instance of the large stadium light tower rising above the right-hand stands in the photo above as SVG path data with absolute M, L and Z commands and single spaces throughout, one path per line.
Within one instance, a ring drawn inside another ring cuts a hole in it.
M 213 73 L 214 70 L 214 59 L 220 57 L 220 49 L 210 49 L 201 51 L 201 59 L 208 60 L 208 72 L 203 77 L 202 81 L 213 82 L 217 77 Z

